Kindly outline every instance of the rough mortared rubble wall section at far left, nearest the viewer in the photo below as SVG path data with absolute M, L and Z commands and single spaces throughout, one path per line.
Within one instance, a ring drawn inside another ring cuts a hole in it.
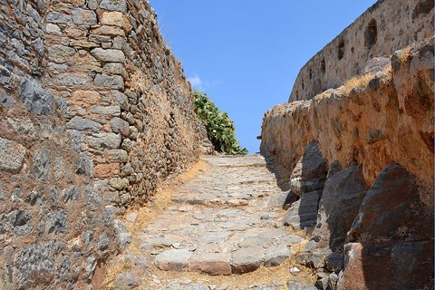
M 84 289 L 117 247 L 92 163 L 43 85 L 47 9 L 2 2 L 0 289 Z

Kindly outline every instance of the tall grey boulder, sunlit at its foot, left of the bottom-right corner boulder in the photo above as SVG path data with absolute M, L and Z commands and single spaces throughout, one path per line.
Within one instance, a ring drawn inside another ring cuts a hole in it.
M 298 257 L 299 263 L 327 266 L 330 271 L 341 270 L 344 239 L 367 189 L 361 166 L 355 165 L 329 176 L 324 183 L 316 227 L 304 252 Z

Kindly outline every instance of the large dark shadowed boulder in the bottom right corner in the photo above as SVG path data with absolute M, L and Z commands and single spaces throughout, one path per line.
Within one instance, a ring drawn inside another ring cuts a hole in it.
M 433 211 L 401 165 L 382 170 L 346 239 L 338 289 L 432 288 Z

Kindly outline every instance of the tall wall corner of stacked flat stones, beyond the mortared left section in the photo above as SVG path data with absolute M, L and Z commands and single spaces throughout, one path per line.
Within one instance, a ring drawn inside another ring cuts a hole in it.
M 46 15 L 47 87 L 104 199 L 146 201 L 199 154 L 190 85 L 147 1 L 60 1 Z

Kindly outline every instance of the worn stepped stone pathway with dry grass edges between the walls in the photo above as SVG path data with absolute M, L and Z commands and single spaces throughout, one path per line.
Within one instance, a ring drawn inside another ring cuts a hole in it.
M 313 282 L 307 269 L 290 272 L 306 240 L 283 225 L 285 197 L 260 155 L 204 157 L 126 215 L 131 246 L 104 287 L 312 289 L 295 284 Z

